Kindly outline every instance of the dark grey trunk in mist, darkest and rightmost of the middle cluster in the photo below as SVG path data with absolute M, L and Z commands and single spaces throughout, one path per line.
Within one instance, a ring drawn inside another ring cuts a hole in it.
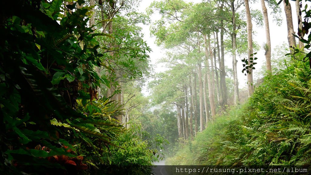
M 222 5 L 221 5 L 222 8 Z M 225 71 L 225 45 L 224 45 L 224 21 L 220 20 L 220 45 L 221 45 L 221 61 L 220 61 L 220 83 L 222 84 L 222 92 L 224 93 L 224 106 L 228 104 L 227 85 L 226 85 L 226 71 Z M 218 38 L 218 36 L 217 36 Z M 218 43 L 218 42 L 217 42 Z

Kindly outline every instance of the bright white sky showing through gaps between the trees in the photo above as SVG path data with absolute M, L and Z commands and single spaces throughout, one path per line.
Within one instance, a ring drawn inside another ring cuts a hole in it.
M 159 0 L 157 0 L 159 1 Z M 202 2 L 202 0 L 185 0 L 186 2 L 194 2 L 194 3 L 199 3 Z M 142 0 L 140 7 L 139 7 L 139 11 L 140 12 L 145 12 L 146 8 L 149 7 L 149 5 L 151 4 L 151 2 L 153 2 L 153 0 Z M 305 2 L 304 2 L 305 3 Z M 290 1 L 291 7 L 292 7 L 292 16 L 293 16 L 293 23 L 294 23 L 294 30 L 295 33 L 297 34 L 297 15 L 296 15 L 296 10 L 295 10 L 295 2 L 294 1 Z M 304 6 L 304 4 L 303 4 Z M 266 7 L 268 9 L 268 15 L 271 13 L 271 9 L 269 9 L 269 7 L 266 4 Z M 241 9 L 244 8 L 244 6 L 240 7 Z M 258 10 L 262 10 L 261 9 L 261 4 L 258 3 L 254 3 L 254 4 L 250 4 L 250 8 L 251 9 L 258 9 Z M 281 15 L 282 15 L 282 25 L 281 26 L 277 26 L 275 22 L 273 22 L 272 18 L 273 16 L 270 15 L 269 16 L 269 25 L 270 25 L 270 38 L 271 38 L 271 47 L 272 47 L 272 52 L 273 49 L 277 46 L 277 45 L 281 45 L 282 43 L 288 43 L 287 41 L 287 26 L 286 26 L 286 19 L 285 19 L 285 12 L 284 12 L 284 7 L 283 7 L 283 3 L 280 4 L 280 8 L 282 10 Z M 156 19 L 159 19 L 160 15 L 153 15 L 151 17 L 151 21 L 154 22 Z M 253 31 L 256 32 L 255 35 L 253 35 L 253 40 L 256 41 L 258 43 L 258 45 L 261 47 L 263 43 L 266 42 L 266 34 L 265 34 L 265 29 L 264 29 L 264 25 L 262 27 L 257 26 L 255 21 L 252 21 L 253 24 Z M 146 26 L 146 25 L 142 25 L 142 32 L 144 33 L 144 40 L 147 42 L 148 46 L 152 49 L 152 52 L 149 54 L 150 55 L 150 59 L 151 59 L 151 64 L 153 69 L 155 70 L 155 72 L 161 72 L 161 71 L 165 71 L 165 66 L 163 64 L 158 64 L 157 62 L 165 57 L 165 50 L 161 47 L 158 47 L 155 44 L 155 38 L 150 36 L 150 31 L 149 28 L 150 26 Z M 259 68 L 262 67 L 262 65 L 265 63 L 265 56 L 264 56 L 264 50 L 262 48 L 260 48 L 260 51 L 258 51 L 257 55 L 258 57 L 257 59 L 257 63 L 256 64 L 256 69 L 253 71 L 253 76 L 254 76 L 254 81 L 256 82 L 256 78 L 261 77 L 258 75 L 258 71 Z M 237 57 L 238 60 L 238 79 L 239 79 L 239 88 L 242 87 L 246 87 L 246 76 L 244 75 L 244 73 L 242 73 L 242 62 L 240 60 L 240 58 Z M 272 58 L 273 60 L 273 58 Z M 232 68 L 232 57 L 231 55 L 225 55 L 225 65 L 228 66 L 229 68 Z M 273 70 L 272 70 L 273 71 Z M 148 92 L 146 92 L 146 89 L 143 90 L 143 93 L 145 95 L 148 95 Z

